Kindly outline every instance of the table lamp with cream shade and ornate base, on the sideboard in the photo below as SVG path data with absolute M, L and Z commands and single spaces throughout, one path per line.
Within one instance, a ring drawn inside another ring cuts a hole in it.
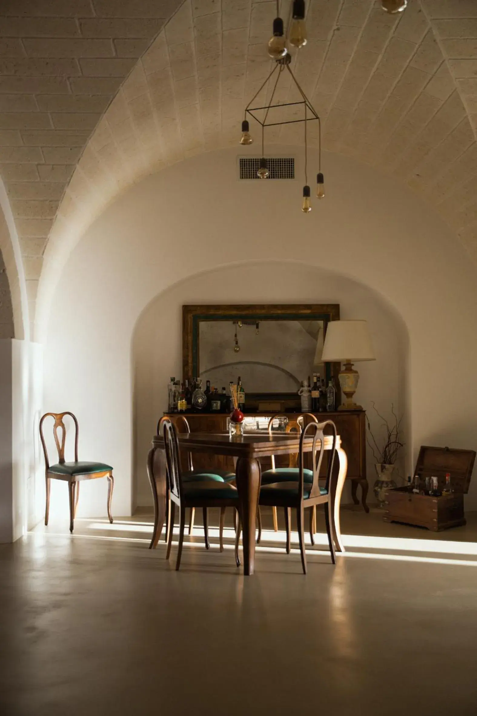
M 346 396 L 338 410 L 363 410 L 353 402 L 360 379 L 353 362 L 375 360 L 373 345 L 367 321 L 330 321 L 326 329 L 325 344 L 321 356 L 323 362 L 344 362 L 345 366 L 338 376 L 341 391 Z

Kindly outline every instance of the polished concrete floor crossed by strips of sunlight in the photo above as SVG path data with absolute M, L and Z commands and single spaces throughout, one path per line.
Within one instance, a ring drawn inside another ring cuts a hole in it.
M 380 517 L 343 510 L 347 552 L 320 533 L 306 577 L 267 529 L 242 576 L 200 524 L 177 573 L 147 514 L 0 546 L 0 715 L 475 716 L 477 516 Z

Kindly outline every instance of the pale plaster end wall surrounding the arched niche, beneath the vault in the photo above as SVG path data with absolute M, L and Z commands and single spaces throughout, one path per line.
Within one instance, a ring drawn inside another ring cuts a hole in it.
M 477 289 L 466 251 L 410 190 L 339 155 L 325 156 L 327 196 L 303 215 L 302 150 L 280 147 L 285 151 L 295 155 L 300 180 L 238 182 L 235 149 L 150 176 L 109 206 L 65 266 L 49 316 L 44 406 L 77 413 L 80 458 L 114 465 L 117 515 L 132 508 L 138 316 L 177 281 L 237 261 L 308 263 L 383 296 L 409 335 L 413 459 L 421 444 L 477 446 Z M 313 153 L 309 164 L 316 164 Z M 232 282 L 224 299 L 246 301 L 247 288 Z M 285 296 L 277 282 L 275 300 Z M 80 514 L 105 513 L 104 490 L 88 485 Z M 477 507 L 472 494 L 470 505 Z

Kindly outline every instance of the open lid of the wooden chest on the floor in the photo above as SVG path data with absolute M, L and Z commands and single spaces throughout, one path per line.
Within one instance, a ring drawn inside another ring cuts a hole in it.
M 431 448 L 421 445 L 414 474 L 421 478 L 436 476 L 439 485 L 446 482 L 446 474 L 451 475 L 453 490 L 467 493 L 471 483 L 475 450 L 455 450 L 454 448 Z

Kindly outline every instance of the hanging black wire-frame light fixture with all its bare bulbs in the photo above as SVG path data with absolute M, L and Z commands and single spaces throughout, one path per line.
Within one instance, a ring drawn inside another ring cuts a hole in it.
M 390 14 L 402 12 L 408 4 L 408 0 L 381 0 L 381 6 L 383 10 Z M 325 183 L 323 173 L 321 171 L 321 121 L 318 112 L 311 104 L 308 97 L 305 95 L 303 88 L 300 87 L 300 83 L 297 81 L 295 74 L 290 67 L 292 57 L 287 49 L 287 44 L 300 49 L 305 47 L 307 44 L 307 33 L 305 26 L 305 0 L 293 0 L 291 18 L 289 23 L 288 32 L 285 33 L 283 20 L 280 17 L 280 2 L 277 0 L 277 16 L 273 21 L 272 26 L 272 37 L 267 45 L 268 54 L 272 59 L 275 59 L 275 67 L 272 72 L 267 76 L 265 82 L 252 97 L 252 100 L 245 107 L 244 119 L 242 121 L 242 137 L 240 138 L 240 144 L 250 145 L 253 142 L 252 135 L 250 135 L 250 125 L 247 117 L 252 117 L 253 120 L 258 122 L 262 127 L 262 157 L 260 158 L 260 165 L 257 170 L 257 176 L 260 179 L 267 179 L 270 175 L 270 170 L 267 166 L 267 160 L 265 158 L 265 127 L 276 127 L 278 125 L 295 124 L 297 122 L 303 122 L 304 126 L 304 138 L 305 138 L 305 185 L 303 186 L 303 203 L 302 211 L 309 213 L 311 211 L 311 200 L 310 200 L 310 186 L 308 185 L 308 122 L 318 121 L 318 174 L 316 176 L 316 195 L 318 199 L 323 199 L 325 196 Z M 280 82 L 282 74 L 287 71 L 292 77 L 292 81 L 297 88 L 301 97 L 297 102 L 279 102 L 276 105 L 273 104 L 273 98 L 277 90 L 277 85 Z M 266 105 L 262 107 L 252 107 L 253 102 L 257 99 L 262 89 L 275 77 L 275 84 L 273 85 L 272 94 L 270 100 Z M 293 119 L 272 121 L 274 110 L 284 110 L 285 108 L 293 107 L 295 110 L 293 113 Z M 303 107 L 302 110 L 300 109 Z M 272 117 L 269 117 L 270 111 L 272 111 Z M 262 115 L 259 113 L 262 112 Z M 262 117 L 262 119 L 260 119 Z

